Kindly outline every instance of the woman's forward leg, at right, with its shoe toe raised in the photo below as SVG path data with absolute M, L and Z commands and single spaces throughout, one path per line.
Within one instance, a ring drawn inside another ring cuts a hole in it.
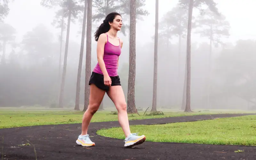
M 146 137 L 144 135 L 138 136 L 137 133 L 131 134 L 127 115 L 126 101 L 122 86 L 111 86 L 107 94 L 109 98 L 114 102 L 118 111 L 118 121 L 125 135 L 124 147 L 133 147 L 135 145 L 143 143 L 146 140 Z

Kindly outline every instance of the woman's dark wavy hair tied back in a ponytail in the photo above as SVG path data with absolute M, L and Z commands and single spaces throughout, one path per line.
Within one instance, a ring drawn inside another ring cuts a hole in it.
M 112 12 L 112 13 L 109 13 L 107 15 L 107 17 L 105 18 L 105 20 L 103 20 L 103 23 L 100 24 L 100 27 L 97 28 L 96 32 L 94 33 L 94 36 L 95 36 L 95 41 L 98 41 L 99 39 L 99 36 L 102 34 L 102 33 L 106 33 L 109 31 L 110 29 L 110 25 L 109 25 L 109 22 L 113 22 L 113 20 L 116 18 L 116 16 L 121 16 L 119 13 L 116 13 L 116 12 Z

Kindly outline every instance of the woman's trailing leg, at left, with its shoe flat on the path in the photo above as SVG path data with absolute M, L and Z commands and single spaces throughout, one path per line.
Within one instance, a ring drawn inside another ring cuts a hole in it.
M 99 89 L 94 84 L 90 85 L 90 98 L 89 98 L 89 106 L 87 110 L 84 112 L 83 120 L 82 120 L 82 133 L 78 136 L 76 143 L 82 146 L 95 146 L 95 143 L 92 142 L 87 134 L 88 127 L 92 116 L 100 107 L 100 103 L 104 97 L 105 91 Z

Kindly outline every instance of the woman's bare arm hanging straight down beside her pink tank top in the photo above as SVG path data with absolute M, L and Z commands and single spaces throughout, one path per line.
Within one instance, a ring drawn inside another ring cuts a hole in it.
M 99 62 L 101 72 L 104 75 L 104 84 L 111 85 L 111 79 L 108 76 L 106 65 L 103 60 L 104 47 L 105 47 L 106 42 L 107 42 L 107 35 L 103 33 L 99 36 L 98 43 L 97 43 L 97 59 Z

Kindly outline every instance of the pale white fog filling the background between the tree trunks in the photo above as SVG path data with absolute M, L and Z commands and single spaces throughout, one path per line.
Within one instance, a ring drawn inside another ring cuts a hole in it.
M 61 29 L 53 22 L 59 8 L 47 8 L 40 2 L 41 0 L 11 1 L 8 4 L 9 14 L 0 23 L 0 107 L 58 106 Z M 214 2 L 217 3 L 221 17 L 216 17 L 204 5 L 201 7 L 204 14 L 198 8 L 193 8 L 191 109 L 254 110 L 256 1 Z M 152 107 L 155 3 L 155 0 L 145 0 L 141 9 L 149 14 L 136 17 L 136 108 Z M 92 18 L 98 13 L 94 2 L 93 5 Z M 177 8 L 177 5 L 178 0 L 159 0 L 157 108 L 181 109 L 182 104 L 188 10 Z M 77 19 L 73 18 L 70 25 L 64 108 L 75 106 L 83 13 L 78 13 Z M 118 36 L 124 41 L 118 74 L 127 100 L 130 15 L 123 14 L 122 17 L 126 34 L 118 32 Z M 66 26 L 67 20 L 64 19 Z M 97 63 L 97 42 L 93 34 L 102 22 L 103 19 L 92 20 L 92 69 Z M 181 30 L 181 34 L 176 30 Z M 62 38 L 61 70 L 66 34 L 67 28 L 64 29 Z M 84 86 L 88 85 L 85 84 L 86 38 L 84 44 L 80 110 L 84 108 Z M 103 104 L 104 108 L 115 107 L 107 94 Z

